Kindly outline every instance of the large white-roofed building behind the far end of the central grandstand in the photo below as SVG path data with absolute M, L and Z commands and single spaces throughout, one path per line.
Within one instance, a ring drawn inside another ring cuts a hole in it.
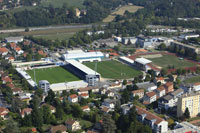
M 84 52 L 82 50 L 67 51 L 66 54 L 62 55 L 62 59 L 65 61 L 76 60 L 79 62 L 93 62 L 101 61 L 102 58 L 104 58 L 102 52 Z

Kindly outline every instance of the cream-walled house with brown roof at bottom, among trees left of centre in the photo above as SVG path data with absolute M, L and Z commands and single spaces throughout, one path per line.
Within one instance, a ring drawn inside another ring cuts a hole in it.
M 75 121 L 73 119 L 68 119 L 65 121 L 65 124 L 67 126 L 67 129 L 71 131 L 77 131 L 81 129 L 81 126 L 78 121 Z

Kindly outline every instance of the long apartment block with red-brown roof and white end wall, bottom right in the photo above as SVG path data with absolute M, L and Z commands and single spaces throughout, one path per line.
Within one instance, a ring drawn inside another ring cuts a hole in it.
M 168 122 L 153 113 L 136 106 L 138 121 L 149 125 L 154 133 L 165 133 L 168 131 Z

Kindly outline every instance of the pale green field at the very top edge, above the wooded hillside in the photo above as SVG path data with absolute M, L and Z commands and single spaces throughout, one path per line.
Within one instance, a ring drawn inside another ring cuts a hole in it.
M 67 4 L 67 6 L 75 6 L 75 7 L 83 7 L 84 0 L 42 0 L 41 6 L 49 6 L 50 4 L 54 7 L 62 7 L 63 4 Z

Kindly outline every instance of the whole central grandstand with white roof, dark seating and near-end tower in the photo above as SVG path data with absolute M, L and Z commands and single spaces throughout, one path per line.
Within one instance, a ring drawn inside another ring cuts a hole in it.
M 76 60 L 68 60 L 64 67 L 93 86 L 100 81 L 101 75 Z

